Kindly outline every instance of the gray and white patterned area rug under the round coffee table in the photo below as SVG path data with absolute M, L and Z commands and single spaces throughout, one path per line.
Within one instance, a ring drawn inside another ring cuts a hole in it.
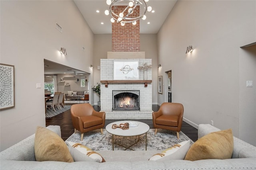
M 156 135 L 154 135 L 155 129 L 150 129 L 147 133 L 147 150 L 165 150 L 169 147 L 172 147 L 175 144 L 178 144 L 182 141 L 190 140 L 192 145 L 194 142 L 187 137 L 184 133 L 180 132 L 180 139 L 177 139 L 176 132 L 168 131 L 164 129 L 158 129 Z M 89 131 L 84 133 L 83 141 L 80 141 L 81 133 L 77 132 L 72 134 L 66 141 L 81 143 L 86 147 L 89 147 L 92 150 L 112 150 L 112 135 L 103 129 L 103 135 L 100 133 L 100 129 Z M 131 149 L 134 150 L 145 150 L 145 139 L 146 135 L 140 135 L 140 141 L 133 145 Z M 114 136 L 114 142 L 130 146 L 134 142 L 138 141 L 138 136 L 135 137 L 120 137 Z M 124 147 L 119 145 L 114 145 L 114 150 L 124 150 Z M 130 149 L 128 149 L 130 150 Z

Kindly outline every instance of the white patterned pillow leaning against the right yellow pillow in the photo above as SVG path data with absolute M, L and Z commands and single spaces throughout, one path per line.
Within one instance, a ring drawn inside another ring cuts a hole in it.
M 174 145 L 173 147 L 170 147 L 161 153 L 154 154 L 149 160 L 174 160 L 179 159 L 183 160 L 188 152 L 188 149 L 190 148 L 190 140 L 183 141 L 179 144 Z

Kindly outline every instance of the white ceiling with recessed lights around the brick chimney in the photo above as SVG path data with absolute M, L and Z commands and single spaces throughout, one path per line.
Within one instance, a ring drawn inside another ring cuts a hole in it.
M 140 20 L 140 33 L 157 33 L 176 1 L 177 0 L 149 0 L 147 6 L 151 6 L 152 10 L 155 12 L 146 12 L 146 20 Z M 109 10 L 106 0 L 74 0 L 74 2 L 94 34 L 112 33 L 111 16 L 104 14 L 105 10 Z M 96 10 L 99 10 L 99 12 L 97 13 Z M 150 22 L 150 24 L 148 24 L 148 22 Z

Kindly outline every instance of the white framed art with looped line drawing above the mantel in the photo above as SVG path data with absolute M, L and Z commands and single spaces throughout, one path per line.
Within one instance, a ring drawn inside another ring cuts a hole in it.
M 139 80 L 139 61 L 114 61 L 114 80 Z

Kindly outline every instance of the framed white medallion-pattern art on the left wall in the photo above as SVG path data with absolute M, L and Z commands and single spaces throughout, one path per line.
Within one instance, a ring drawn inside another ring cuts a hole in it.
M 0 110 L 14 107 L 14 66 L 0 63 Z

